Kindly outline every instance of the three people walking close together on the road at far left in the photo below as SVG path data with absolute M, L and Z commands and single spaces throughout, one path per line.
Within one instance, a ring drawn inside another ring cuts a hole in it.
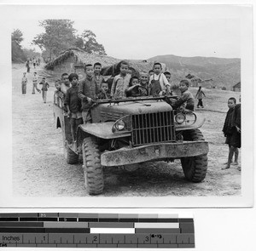
M 26 95 L 26 84 L 27 84 L 27 77 L 26 72 L 23 72 L 23 77 L 21 78 L 21 93 L 23 96 Z M 43 77 L 42 81 L 39 83 L 42 85 L 42 98 L 44 103 L 46 103 L 46 97 L 47 97 L 47 91 L 49 88 L 49 83 L 46 82 L 46 78 Z M 32 77 L 32 94 L 35 94 L 35 90 L 38 91 L 38 93 L 41 93 L 41 90 L 38 88 L 38 73 L 34 72 Z

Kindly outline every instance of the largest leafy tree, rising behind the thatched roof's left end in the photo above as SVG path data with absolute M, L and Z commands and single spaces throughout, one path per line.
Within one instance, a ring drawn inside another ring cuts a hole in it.
M 37 44 L 42 50 L 49 51 L 49 57 L 60 54 L 62 50 L 75 45 L 76 37 L 71 20 L 44 20 L 39 22 L 43 26 L 44 33 L 34 37 L 32 43 Z

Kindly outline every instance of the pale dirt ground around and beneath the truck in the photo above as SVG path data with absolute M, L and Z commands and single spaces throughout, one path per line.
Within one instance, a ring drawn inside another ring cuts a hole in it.
M 87 197 L 82 164 L 68 165 L 63 156 L 61 129 L 52 113 L 54 94 L 50 84 L 47 103 L 32 95 L 32 73 L 27 75 L 27 94 L 21 95 L 20 79 L 25 66 L 13 66 L 13 195 L 15 197 Z M 33 69 L 32 69 L 33 71 Z M 40 69 L 37 69 L 40 77 Z M 211 94 L 211 92 L 215 92 Z M 104 170 L 102 197 L 231 196 L 241 194 L 237 168 L 221 170 L 228 155 L 221 133 L 229 92 L 207 90 L 207 118 L 201 128 L 209 142 L 207 178 L 189 183 L 179 161 L 145 164 L 133 173 L 118 168 Z M 232 93 L 234 95 L 234 93 Z M 236 94 L 236 96 L 239 94 Z M 216 100 L 218 99 L 218 100 Z

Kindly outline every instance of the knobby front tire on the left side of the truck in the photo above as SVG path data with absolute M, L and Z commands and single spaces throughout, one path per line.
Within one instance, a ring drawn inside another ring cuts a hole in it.
M 101 194 L 104 187 L 101 153 L 95 138 L 83 141 L 84 184 L 90 195 Z

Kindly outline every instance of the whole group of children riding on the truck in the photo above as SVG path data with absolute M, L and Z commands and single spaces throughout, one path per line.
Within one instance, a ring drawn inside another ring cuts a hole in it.
M 194 111 L 195 100 L 189 92 L 189 81 L 182 80 L 179 85 L 171 83 L 171 73 L 162 73 L 160 63 L 154 63 L 153 70 L 141 72 L 140 76 L 132 76 L 129 64 L 122 61 L 119 74 L 113 77 L 111 88 L 101 76 L 102 65 L 87 64 L 84 67 L 85 77 L 79 81 L 76 73 L 63 73 L 61 80 L 55 82 L 55 104 L 66 110 L 70 117 L 73 143 L 76 130 L 81 123 L 91 123 L 90 108 L 95 100 L 123 99 L 143 95 L 176 95 L 177 99 L 166 98 L 166 102 L 174 108 Z M 71 87 L 70 87 L 71 84 Z

